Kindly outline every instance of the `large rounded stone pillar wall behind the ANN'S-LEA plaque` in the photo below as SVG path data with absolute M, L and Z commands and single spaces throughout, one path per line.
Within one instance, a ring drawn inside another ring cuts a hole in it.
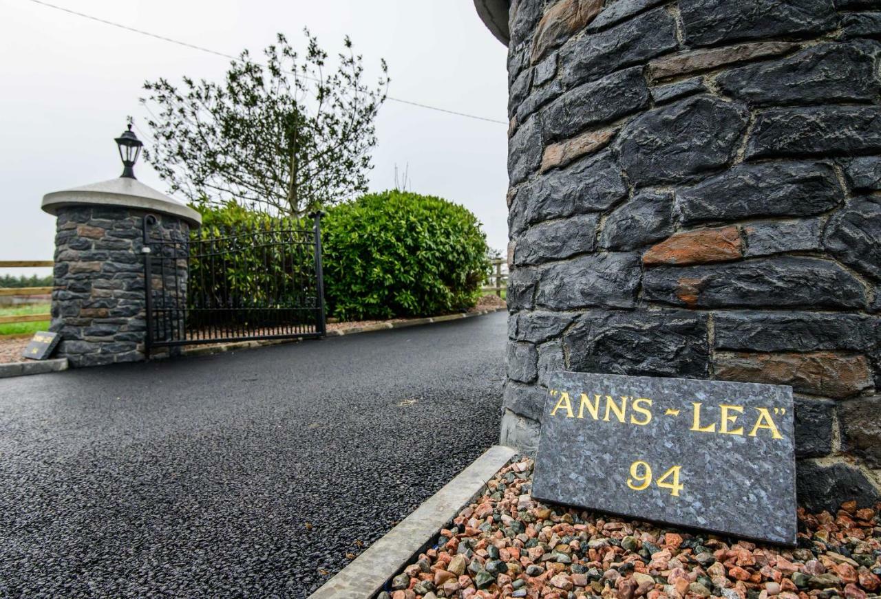
M 881 1 L 515 0 L 502 441 L 549 370 L 791 385 L 800 501 L 881 482 Z

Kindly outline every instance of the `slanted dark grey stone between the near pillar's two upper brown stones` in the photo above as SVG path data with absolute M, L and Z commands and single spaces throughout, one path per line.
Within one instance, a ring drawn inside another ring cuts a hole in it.
M 658 8 L 600 33 L 583 35 L 559 50 L 560 76 L 566 86 L 645 63 L 677 47 L 670 13 Z

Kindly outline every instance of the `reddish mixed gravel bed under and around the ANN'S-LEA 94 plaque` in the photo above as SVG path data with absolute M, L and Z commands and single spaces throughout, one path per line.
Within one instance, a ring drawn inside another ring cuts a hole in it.
M 798 548 L 548 506 L 533 462 L 500 470 L 477 503 L 378 599 L 865 599 L 881 588 L 877 509 L 799 510 Z

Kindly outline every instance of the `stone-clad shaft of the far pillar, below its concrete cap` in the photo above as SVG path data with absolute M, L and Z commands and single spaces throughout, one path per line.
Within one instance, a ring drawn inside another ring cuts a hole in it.
M 70 366 L 144 359 L 144 212 L 78 206 L 59 209 L 50 329 Z M 189 226 L 157 215 L 153 234 L 186 240 Z

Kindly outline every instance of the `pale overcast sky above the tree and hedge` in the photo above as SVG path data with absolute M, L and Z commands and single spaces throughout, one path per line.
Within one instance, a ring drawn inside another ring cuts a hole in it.
M 229 55 L 260 55 L 279 31 L 300 44 L 303 26 L 336 55 L 348 34 L 371 75 L 388 61 L 389 96 L 506 121 L 506 48 L 470 0 L 48 1 Z M 219 81 L 229 63 L 31 0 L 0 0 L 0 52 L 0 260 L 52 259 L 55 218 L 42 196 L 121 172 L 113 138 L 126 115 L 145 121 L 144 80 Z M 394 187 L 395 166 L 409 165 L 410 189 L 463 203 L 504 249 L 506 129 L 387 101 L 370 189 Z M 145 162 L 136 173 L 167 191 Z

